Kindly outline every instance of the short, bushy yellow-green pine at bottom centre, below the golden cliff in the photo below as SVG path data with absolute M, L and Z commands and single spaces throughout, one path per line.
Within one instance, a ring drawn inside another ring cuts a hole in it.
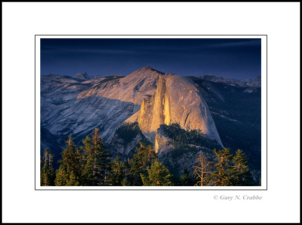
M 157 159 L 147 169 L 148 175 L 140 174 L 143 186 L 172 186 L 171 174 Z

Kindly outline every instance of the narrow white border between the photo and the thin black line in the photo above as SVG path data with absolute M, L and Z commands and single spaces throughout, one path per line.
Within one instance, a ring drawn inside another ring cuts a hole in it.
M 252 187 L 41 187 L 40 186 L 40 39 L 41 38 L 261 38 L 261 185 Z M 36 190 L 266 190 L 267 189 L 267 36 L 266 35 L 37 35 L 35 36 L 35 189 Z

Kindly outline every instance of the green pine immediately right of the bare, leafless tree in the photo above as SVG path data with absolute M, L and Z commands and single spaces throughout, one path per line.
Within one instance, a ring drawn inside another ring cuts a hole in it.
M 214 186 L 230 186 L 231 175 L 232 175 L 232 164 L 231 158 L 233 155 L 230 153 L 230 148 L 223 148 L 216 152 L 216 149 L 213 150 L 215 154 L 215 164 L 212 167 L 214 169 L 213 173 L 210 176 L 211 182 Z

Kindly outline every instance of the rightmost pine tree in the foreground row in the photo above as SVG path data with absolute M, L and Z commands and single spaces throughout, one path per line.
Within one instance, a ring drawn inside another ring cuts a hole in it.
M 234 163 L 231 177 L 232 186 L 252 186 L 253 178 L 247 165 L 248 159 L 240 149 L 236 151 L 232 162 Z

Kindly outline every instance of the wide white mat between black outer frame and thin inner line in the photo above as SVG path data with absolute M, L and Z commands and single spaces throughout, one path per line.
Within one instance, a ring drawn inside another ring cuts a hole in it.
M 299 3 L 2 7 L 3 222 L 299 222 Z M 35 191 L 35 34 L 267 34 L 268 190 Z

